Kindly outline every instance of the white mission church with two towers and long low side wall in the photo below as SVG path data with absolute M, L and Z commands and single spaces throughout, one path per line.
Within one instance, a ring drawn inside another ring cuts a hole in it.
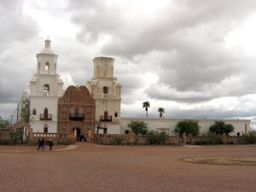
M 182 119 L 120 117 L 121 84 L 113 76 L 113 58 L 96 57 L 93 78 L 86 85 L 63 90 L 64 83 L 57 73 L 58 55 L 50 44 L 49 39 L 45 40 L 44 49 L 37 54 L 37 71 L 30 81 L 30 124 L 34 133 L 70 133 L 75 129 L 90 137 L 96 133 L 95 122 L 101 122 L 105 129 L 100 133 L 125 134 L 130 131 L 127 124 L 131 120 L 143 120 L 149 130 L 174 135 L 175 125 Z M 219 119 L 198 120 L 203 134 Z M 234 125 L 233 135 L 250 131 L 250 119 L 221 120 Z

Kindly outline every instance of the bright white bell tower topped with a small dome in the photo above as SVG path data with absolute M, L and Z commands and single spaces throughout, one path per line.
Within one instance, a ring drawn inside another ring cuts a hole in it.
M 30 111 L 33 132 L 57 131 L 58 99 L 63 94 L 63 81 L 56 73 L 58 55 L 46 39 L 44 49 L 37 54 L 37 73 L 30 81 Z

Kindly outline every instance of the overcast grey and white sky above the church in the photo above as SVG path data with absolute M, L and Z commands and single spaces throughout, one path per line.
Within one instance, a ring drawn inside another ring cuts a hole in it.
M 252 119 L 256 128 L 255 0 L 1 0 L 0 116 L 29 92 L 49 36 L 58 73 L 82 85 L 96 56 L 115 58 L 122 116 Z

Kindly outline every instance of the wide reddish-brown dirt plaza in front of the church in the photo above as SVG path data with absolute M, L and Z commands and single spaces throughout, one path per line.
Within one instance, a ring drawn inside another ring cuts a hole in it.
M 0 191 L 256 191 L 256 166 L 184 162 L 256 156 L 256 145 L 0 146 Z

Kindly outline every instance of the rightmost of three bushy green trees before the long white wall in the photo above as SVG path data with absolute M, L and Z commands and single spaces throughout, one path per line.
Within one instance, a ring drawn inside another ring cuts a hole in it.
M 214 125 L 211 125 L 209 128 L 209 131 L 215 132 L 217 135 L 223 135 L 225 134 L 228 136 L 230 132 L 233 132 L 235 130 L 234 126 L 231 124 L 225 124 L 222 120 L 215 121 Z

